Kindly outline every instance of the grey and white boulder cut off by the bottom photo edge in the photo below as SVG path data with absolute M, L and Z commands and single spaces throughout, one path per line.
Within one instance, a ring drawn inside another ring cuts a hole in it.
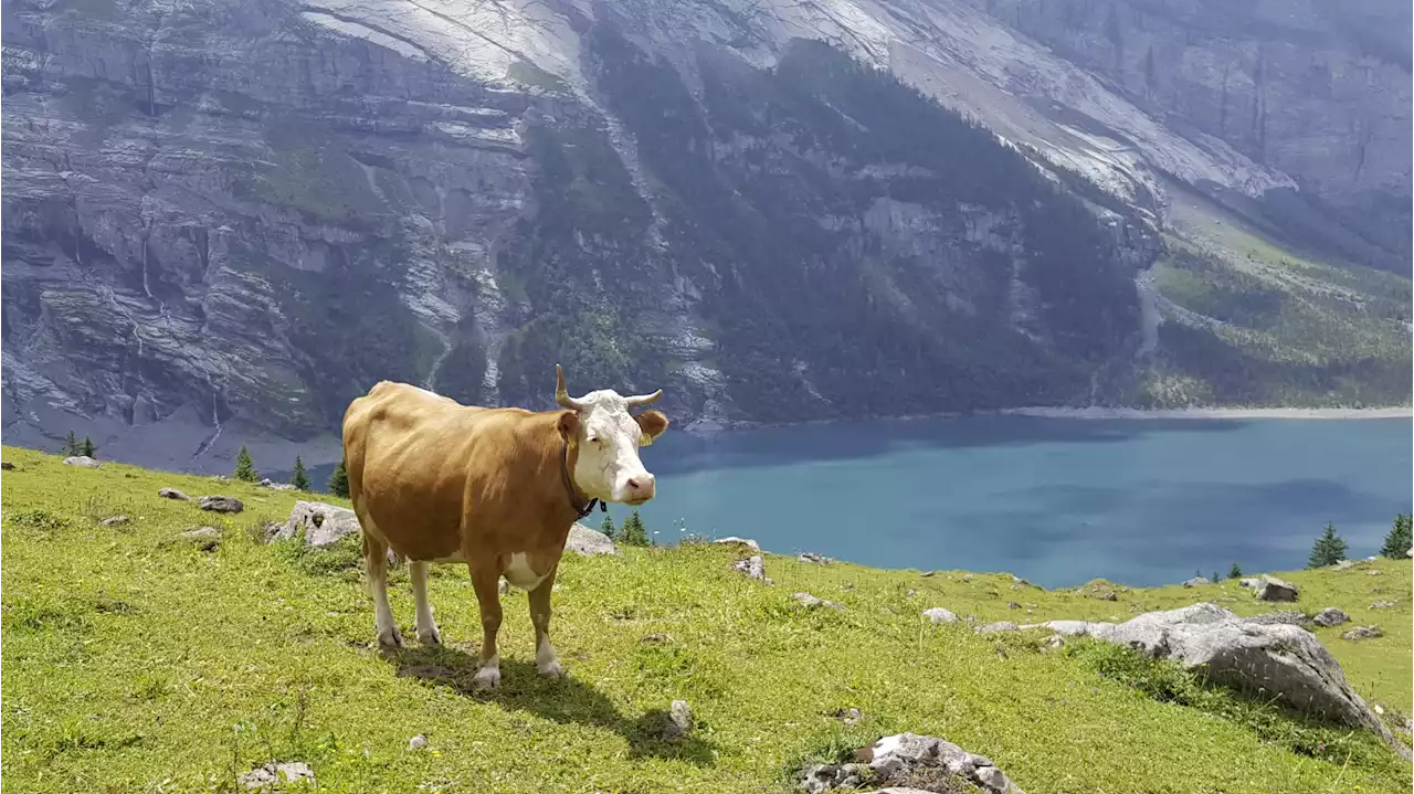
M 901 788 L 882 791 L 921 791 L 908 788 L 913 780 L 953 777 L 986 794 L 1025 794 L 997 769 L 991 759 L 963 750 L 936 736 L 898 733 L 885 736 L 854 752 L 854 763 L 822 764 L 806 770 L 805 790 L 812 793 L 857 788 L 868 781 Z

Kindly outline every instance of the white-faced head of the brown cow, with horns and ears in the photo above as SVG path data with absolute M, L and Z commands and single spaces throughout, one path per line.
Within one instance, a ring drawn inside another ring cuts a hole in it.
M 649 410 L 629 414 L 629 408 L 648 405 L 663 396 L 624 397 L 612 389 L 570 397 L 564 389 L 564 370 L 554 365 L 554 401 L 568 408 L 560 417 L 560 432 L 578 439 L 574 483 L 592 499 L 642 504 L 653 499 L 653 475 L 638 459 L 638 448 L 648 446 L 667 429 L 667 417 Z

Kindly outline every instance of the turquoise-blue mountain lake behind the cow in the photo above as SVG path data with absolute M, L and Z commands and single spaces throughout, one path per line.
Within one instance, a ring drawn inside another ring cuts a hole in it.
M 880 568 L 1130 585 L 1301 568 L 1326 521 L 1352 557 L 1414 511 L 1414 420 L 974 417 L 669 431 L 642 451 L 659 543 L 755 538 Z M 311 470 L 322 487 L 329 468 Z M 611 506 L 615 523 L 629 510 Z M 598 526 L 601 514 L 587 520 Z

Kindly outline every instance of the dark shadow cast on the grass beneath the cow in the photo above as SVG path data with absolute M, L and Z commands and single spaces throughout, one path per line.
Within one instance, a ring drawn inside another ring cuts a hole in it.
M 648 711 L 636 719 L 629 718 L 592 684 L 577 681 L 573 671 L 568 677 L 551 681 L 543 678 L 533 664 L 502 657 L 501 687 L 478 691 L 474 687 L 477 657 L 461 648 L 404 647 L 383 650 L 379 654 L 396 668 L 399 678 L 419 678 L 465 698 L 498 704 L 508 711 L 530 712 L 560 723 L 608 728 L 628 742 L 629 754 L 635 759 L 655 756 L 696 766 L 717 763 L 711 742 L 693 735 L 672 742 L 662 739 L 662 729 L 667 721 L 665 709 Z

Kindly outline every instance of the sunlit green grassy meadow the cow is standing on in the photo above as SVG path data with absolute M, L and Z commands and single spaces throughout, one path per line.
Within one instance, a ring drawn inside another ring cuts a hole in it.
M 0 448 L 0 791 L 211 791 L 270 760 L 307 760 L 327 791 L 786 791 L 783 770 L 833 746 L 915 730 L 984 753 L 1032 793 L 1401 791 L 1414 766 L 1360 735 L 1329 732 L 1332 759 L 1263 742 L 1247 725 L 1157 702 L 1079 657 L 1022 637 L 930 627 L 947 606 L 983 620 L 1124 619 L 1213 598 L 1264 609 L 1236 585 L 1121 591 L 1118 602 L 1044 592 L 1010 576 L 826 568 L 768 557 L 772 586 L 728 571 L 731 550 L 567 557 L 554 637 L 571 681 L 534 677 L 523 593 L 506 596 L 503 688 L 474 697 L 478 616 L 465 572 L 437 569 L 448 647 L 411 641 L 406 574 L 393 608 L 410 647 L 370 647 L 358 572 L 318 572 L 247 531 L 294 494 L 119 465 L 102 470 Z M 235 519 L 158 499 L 163 486 L 246 500 Z M 95 519 L 126 513 L 122 530 Z M 215 554 L 165 544 L 223 526 Z M 749 534 L 749 528 L 742 528 Z M 1386 637 L 1321 637 L 1369 698 L 1414 713 L 1414 564 L 1294 574 L 1308 610 L 1345 608 Z M 1373 592 L 1380 588 L 1380 592 Z M 848 612 L 807 613 L 806 589 Z M 916 591 L 909 595 L 909 591 Z M 1369 612 L 1369 602 L 1398 600 Z M 1022 603 L 1008 609 L 1007 602 Z M 1029 606 L 1034 605 L 1034 606 Z M 669 644 L 641 641 L 663 632 Z M 998 653 L 1003 648 L 1005 653 Z M 400 677 L 441 665 L 440 681 Z M 653 721 L 673 698 L 700 721 L 666 746 Z M 847 728 L 831 716 L 855 706 Z M 416 733 L 430 739 L 407 750 Z M 1343 763 L 1359 745 L 1365 760 Z M 1373 760 L 1370 760 L 1373 757 Z

